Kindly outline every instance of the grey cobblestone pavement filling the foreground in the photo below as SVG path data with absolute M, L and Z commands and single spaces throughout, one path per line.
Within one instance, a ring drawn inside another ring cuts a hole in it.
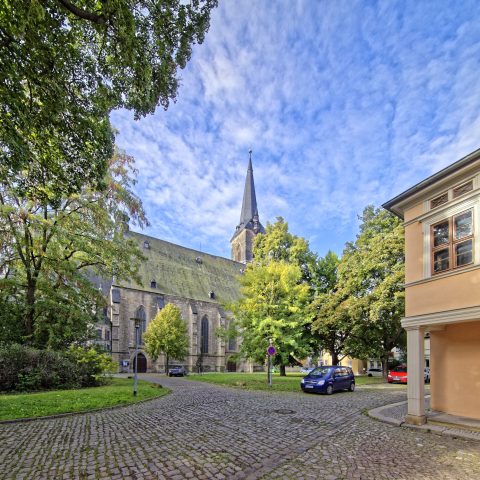
M 398 390 L 332 396 L 161 378 L 166 397 L 0 425 L 2 479 L 480 479 L 480 444 L 395 427 L 367 409 Z

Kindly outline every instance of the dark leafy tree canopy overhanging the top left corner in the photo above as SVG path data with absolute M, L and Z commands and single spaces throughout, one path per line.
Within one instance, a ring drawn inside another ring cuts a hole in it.
M 109 114 L 167 108 L 217 0 L 0 0 L 0 180 L 61 197 L 102 181 Z M 42 188 L 39 188 L 41 185 Z

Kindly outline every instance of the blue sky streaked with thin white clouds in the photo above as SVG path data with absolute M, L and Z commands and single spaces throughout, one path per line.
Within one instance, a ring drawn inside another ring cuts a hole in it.
M 251 147 L 262 223 L 341 253 L 367 204 L 480 147 L 479 25 L 477 1 L 221 2 L 177 102 L 112 114 L 144 232 L 230 257 Z

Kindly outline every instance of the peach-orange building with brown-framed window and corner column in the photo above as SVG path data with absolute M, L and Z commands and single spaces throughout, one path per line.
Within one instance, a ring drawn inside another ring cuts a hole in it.
M 405 221 L 407 422 L 426 421 L 425 333 L 431 408 L 480 419 L 480 150 L 383 206 Z

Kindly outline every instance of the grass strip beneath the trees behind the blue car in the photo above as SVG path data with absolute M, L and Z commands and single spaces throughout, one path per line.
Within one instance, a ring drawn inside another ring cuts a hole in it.
M 272 387 L 268 386 L 266 373 L 203 373 L 202 375 L 190 374 L 185 378 L 198 382 L 215 383 L 244 390 L 269 390 L 276 392 L 299 392 L 300 380 L 304 375 L 300 373 L 287 373 L 286 377 L 273 374 Z M 357 385 L 383 383 L 379 377 L 355 377 Z

